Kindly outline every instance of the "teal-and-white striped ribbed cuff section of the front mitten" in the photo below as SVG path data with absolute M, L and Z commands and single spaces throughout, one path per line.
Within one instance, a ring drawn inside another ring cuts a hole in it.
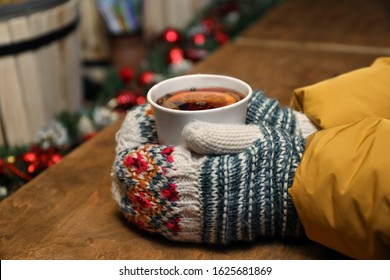
M 200 172 L 203 242 L 304 235 L 288 188 L 305 141 L 272 127 L 261 133 L 239 154 L 207 156 Z

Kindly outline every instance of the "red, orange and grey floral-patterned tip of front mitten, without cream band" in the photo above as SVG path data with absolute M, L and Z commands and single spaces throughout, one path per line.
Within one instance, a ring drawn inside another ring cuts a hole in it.
M 113 185 L 114 198 L 129 222 L 168 238 L 180 230 L 178 192 L 165 176 L 172 168 L 172 149 L 145 145 L 122 150 L 114 165 Z

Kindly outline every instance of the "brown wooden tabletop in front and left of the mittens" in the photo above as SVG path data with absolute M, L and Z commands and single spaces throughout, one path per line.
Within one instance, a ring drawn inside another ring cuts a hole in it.
M 0 203 L 1 259 L 337 259 L 309 241 L 180 244 L 125 223 L 111 198 L 120 121 Z

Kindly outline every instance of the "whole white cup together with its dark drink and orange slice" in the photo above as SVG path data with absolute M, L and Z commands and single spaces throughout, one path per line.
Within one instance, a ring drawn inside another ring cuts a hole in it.
M 147 100 L 154 109 L 159 143 L 182 144 L 182 131 L 192 121 L 244 124 L 251 87 L 236 78 L 183 75 L 153 86 Z

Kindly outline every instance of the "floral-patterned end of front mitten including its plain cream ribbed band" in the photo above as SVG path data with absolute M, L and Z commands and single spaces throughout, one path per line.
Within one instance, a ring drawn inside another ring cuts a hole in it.
M 159 145 L 119 152 L 111 190 L 130 223 L 171 240 L 201 241 L 201 195 L 194 177 L 201 162 L 190 157 L 180 147 Z

